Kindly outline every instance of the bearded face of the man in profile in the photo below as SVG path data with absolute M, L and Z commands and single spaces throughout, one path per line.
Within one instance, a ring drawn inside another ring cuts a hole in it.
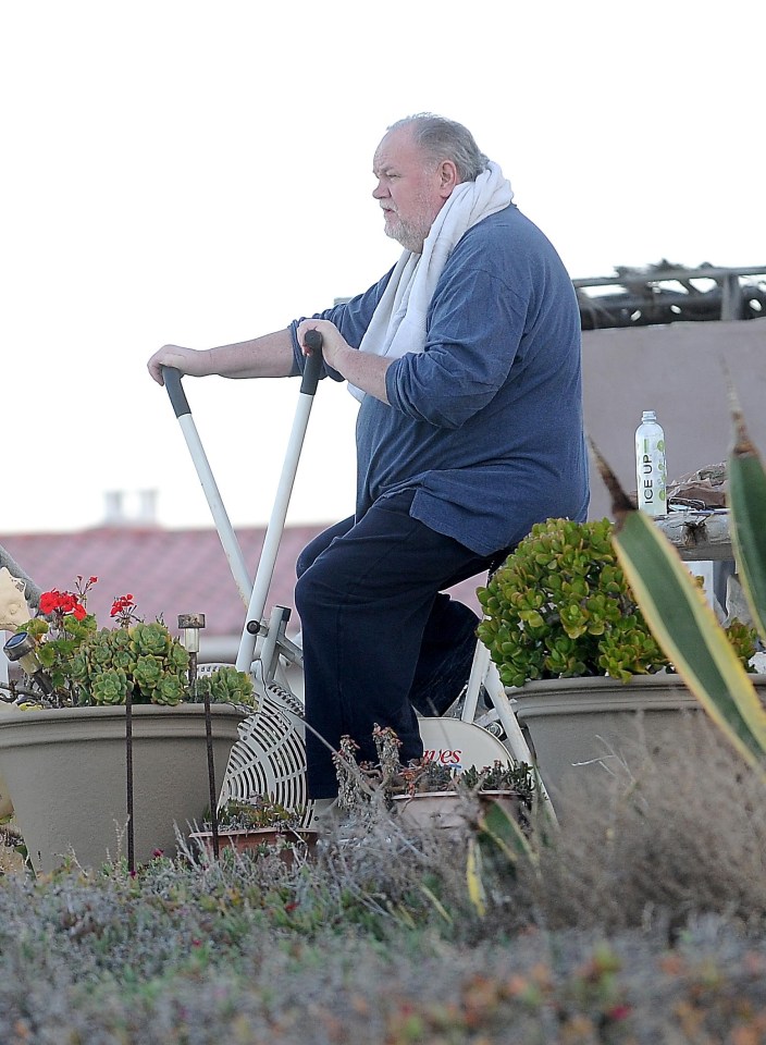
M 386 236 L 406 250 L 422 254 L 433 220 L 454 187 L 448 172 L 445 176 L 448 165 L 427 160 L 407 126 L 390 131 L 378 146 L 372 195 L 383 208 Z

